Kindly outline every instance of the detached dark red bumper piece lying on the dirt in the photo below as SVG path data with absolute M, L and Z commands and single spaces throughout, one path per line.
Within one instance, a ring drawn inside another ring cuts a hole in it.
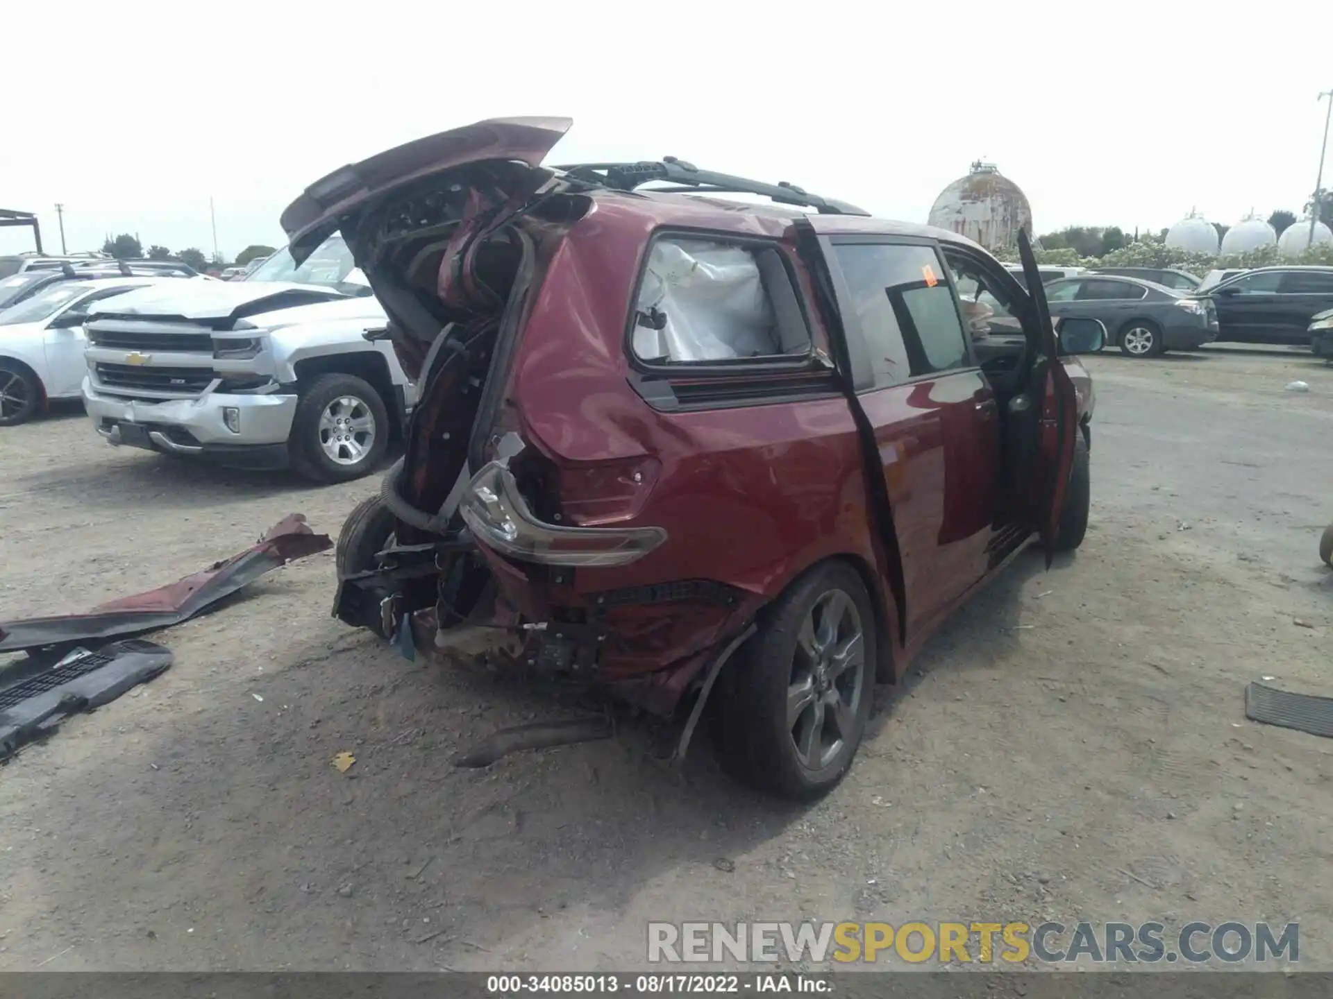
M 139 634 L 187 621 L 288 562 L 333 547 L 305 515 L 293 513 L 273 525 L 256 545 L 167 586 L 101 603 L 87 614 L 25 618 L 0 623 L 0 653 Z

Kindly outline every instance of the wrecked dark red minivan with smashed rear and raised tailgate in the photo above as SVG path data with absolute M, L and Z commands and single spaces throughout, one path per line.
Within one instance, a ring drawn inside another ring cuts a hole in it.
M 1105 329 L 1057 337 L 1026 236 L 1030 292 L 790 184 L 543 166 L 569 125 L 444 132 L 283 213 L 297 261 L 341 230 L 419 386 L 336 614 L 405 654 L 500 625 L 515 667 L 688 715 L 680 751 L 706 706 L 726 767 L 818 794 L 876 681 L 1025 545 L 1082 539 L 1070 354 Z

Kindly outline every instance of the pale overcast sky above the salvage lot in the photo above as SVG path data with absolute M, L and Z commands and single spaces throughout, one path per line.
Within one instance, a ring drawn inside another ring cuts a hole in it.
M 1232 224 L 1314 186 L 1321 7 L 12 3 L 0 208 L 36 212 L 48 252 L 61 201 L 69 250 L 131 232 L 211 253 L 212 196 L 231 257 L 281 244 L 283 208 L 344 163 L 564 115 L 557 163 L 674 155 L 892 218 L 925 221 L 985 157 L 1038 233 Z

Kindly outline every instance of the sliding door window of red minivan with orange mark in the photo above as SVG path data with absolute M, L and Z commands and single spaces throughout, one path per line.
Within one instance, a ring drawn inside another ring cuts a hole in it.
M 970 364 L 958 306 L 930 246 L 836 244 L 876 385 Z

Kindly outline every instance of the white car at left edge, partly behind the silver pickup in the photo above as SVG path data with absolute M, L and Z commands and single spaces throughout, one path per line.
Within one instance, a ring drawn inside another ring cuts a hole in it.
M 0 426 L 27 422 L 53 398 L 77 398 L 87 372 L 81 326 L 88 310 L 164 280 L 60 281 L 0 312 Z

